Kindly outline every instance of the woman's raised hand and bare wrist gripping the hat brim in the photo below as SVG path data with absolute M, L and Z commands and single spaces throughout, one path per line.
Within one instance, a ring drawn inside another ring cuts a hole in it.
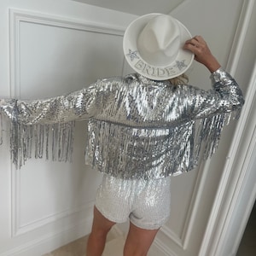
M 220 64 L 208 48 L 207 42 L 201 36 L 195 36 L 195 38 L 186 41 L 183 49 L 192 51 L 195 54 L 195 61 L 206 66 L 211 73 L 220 67 Z

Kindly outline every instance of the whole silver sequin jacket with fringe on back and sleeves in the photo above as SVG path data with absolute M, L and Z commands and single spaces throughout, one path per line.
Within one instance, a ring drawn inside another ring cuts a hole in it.
M 36 158 L 71 160 L 74 123 L 87 119 L 85 158 L 97 171 L 144 179 L 188 172 L 201 153 L 205 159 L 214 153 L 224 123 L 244 103 L 224 69 L 211 79 L 206 91 L 135 73 L 66 96 L 1 100 L 1 113 L 11 119 L 12 160 L 20 168 L 32 151 Z

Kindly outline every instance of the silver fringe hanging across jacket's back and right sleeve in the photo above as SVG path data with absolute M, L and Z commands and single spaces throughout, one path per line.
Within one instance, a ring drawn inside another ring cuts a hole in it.
M 89 126 L 85 161 L 96 171 L 125 179 L 177 176 L 212 157 L 224 125 L 229 125 L 232 116 L 239 118 L 240 111 L 198 119 L 172 130 L 133 129 L 132 134 L 125 126 L 95 121 Z

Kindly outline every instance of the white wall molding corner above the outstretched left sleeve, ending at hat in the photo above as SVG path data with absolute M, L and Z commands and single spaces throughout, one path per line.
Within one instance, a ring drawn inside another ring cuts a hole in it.
M 70 20 L 59 16 L 9 9 L 10 96 L 20 96 L 20 25 L 23 22 L 118 37 L 123 37 L 125 32 L 124 29 L 119 27 L 97 24 L 91 21 Z

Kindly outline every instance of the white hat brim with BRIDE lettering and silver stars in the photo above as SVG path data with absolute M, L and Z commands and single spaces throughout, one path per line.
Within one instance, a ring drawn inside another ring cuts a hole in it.
M 164 67 L 149 65 L 147 61 L 144 61 L 139 54 L 137 49 L 137 38 L 140 32 L 143 31 L 144 26 L 147 25 L 148 21 L 157 15 L 162 14 L 143 15 L 137 18 L 137 20 L 132 21 L 131 24 L 126 28 L 123 40 L 125 59 L 133 70 L 147 77 L 148 79 L 173 79 L 185 73 L 194 61 L 195 55 L 191 51 L 183 49 L 183 44 L 192 38 L 192 36 L 189 30 L 177 20 L 181 32 L 181 45 L 176 59 Z

